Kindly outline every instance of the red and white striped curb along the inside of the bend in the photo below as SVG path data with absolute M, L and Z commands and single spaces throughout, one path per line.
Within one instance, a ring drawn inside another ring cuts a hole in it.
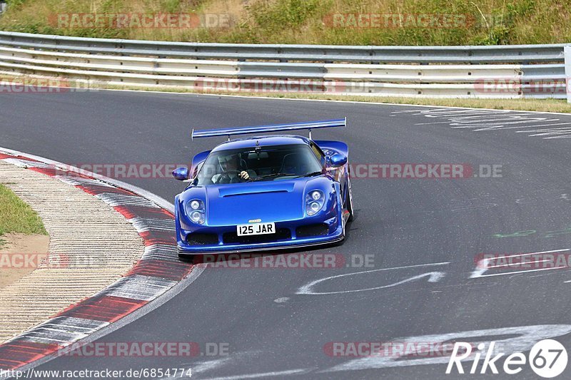
M 141 259 L 123 278 L 0 344 L 0 369 L 18 369 L 54 354 L 135 312 L 191 274 L 193 266 L 178 260 L 170 210 L 135 192 L 103 182 L 101 176 L 75 172 L 65 175 L 65 168 L 56 167 L 49 160 L 44 163 L 6 153 L 0 153 L 0 160 L 49 175 L 106 202 L 131 222 L 146 246 Z

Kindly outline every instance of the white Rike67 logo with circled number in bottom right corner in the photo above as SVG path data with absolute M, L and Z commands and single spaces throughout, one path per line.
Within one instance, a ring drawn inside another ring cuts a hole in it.
M 495 342 L 490 342 L 487 346 L 484 343 L 477 345 L 477 351 L 473 354 L 473 345 L 465 342 L 456 342 L 448 361 L 446 374 L 453 373 L 455 369 L 458 374 L 487 374 L 488 369 L 492 374 L 499 374 L 502 369 L 505 374 L 519 374 L 524 366 L 529 364 L 532 371 L 543 378 L 552 378 L 562 374 L 567 367 L 567 350 L 565 347 L 553 339 L 543 339 L 532 346 L 530 354 L 526 357 L 522 352 L 510 354 L 503 360 L 503 365 L 498 363 L 506 354 L 501 352 Z M 500 351 L 498 353 L 498 351 Z M 473 356 L 472 364 L 470 359 Z M 482 361 L 480 361 L 480 359 Z M 468 362 L 468 369 L 464 369 L 464 363 Z M 478 367 L 481 368 L 477 371 Z

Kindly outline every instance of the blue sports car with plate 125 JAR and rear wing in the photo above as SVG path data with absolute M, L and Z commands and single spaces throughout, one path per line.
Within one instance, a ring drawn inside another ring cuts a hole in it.
M 353 219 L 348 147 L 312 140 L 316 128 L 346 119 L 193 130 L 192 138 L 228 136 L 194 156 L 173 177 L 189 185 L 175 197 L 179 257 L 309 247 L 345 239 Z M 261 135 L 309 130 L 299 135 Z M 257 134 L 237 138 L 233 135 Z

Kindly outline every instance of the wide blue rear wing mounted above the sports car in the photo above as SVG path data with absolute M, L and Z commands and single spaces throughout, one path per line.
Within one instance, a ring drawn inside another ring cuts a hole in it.
M 333 128 L 345 127 L 347 125 L 347 118 L 323 120 L 323 121 L 305 121 L 303 123 L 291 124 L 273 124 L 273 125 L 257 125 L 251 127 L 234 127 L 234 128 L 220 128 L 208 130 L 192 130 L 192 138 L 214 137 L 214 136 L 228 136 L 230 140 L 231 135 L 246 135 L 248 133 L 265 133 L 265 132 L 283 132 L 284 130 L 309 130 L 309 138 L 311 138 L 311 130 L 317 128 Z

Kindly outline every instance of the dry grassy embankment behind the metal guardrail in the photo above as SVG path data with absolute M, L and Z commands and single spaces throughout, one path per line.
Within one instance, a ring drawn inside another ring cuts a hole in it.
M 0 29 L 69 36 L 343 45 L 571 41 L 571 2 L 560 0 L 8 0 L 8 4 Z M 206 14 L 211 21 L 209 26 L 173 29 L 136 24 L 116 28 L 107 23 L 59 27 L 57 22 L 61 14 L 158 13 Z M 372 14 L 381 21 L 373 27 L 355 27 L 340 16 L 343 21 L 334 24 L 335 14 Z M 435 19 L 427 21 L 420 15 Z

